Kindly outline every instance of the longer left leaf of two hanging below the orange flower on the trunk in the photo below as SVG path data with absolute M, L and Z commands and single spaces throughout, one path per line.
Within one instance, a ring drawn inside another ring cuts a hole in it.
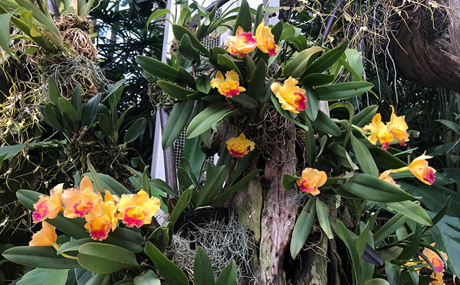
M 305 207 L 303 207 L 299 218 L 295 221 L 292 238 L 290 239 L 290 256 L 292 256 L 293 259 L 297 257 L 297 254 L 302 249 L 303 244 L 305 244 L 308 235 L 312 230 L 314 218 L 317 216 L 314 200 L 314 198 L 310 198 L 308 200 Z

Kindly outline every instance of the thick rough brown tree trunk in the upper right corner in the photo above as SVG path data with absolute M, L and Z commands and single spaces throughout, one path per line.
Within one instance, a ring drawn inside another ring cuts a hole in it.
M 440 4 L 449 5 L 449 0 Z M 395 27 L 398 32 L 389 45 L 398 75 L 418 84 L 444 87 L 460 93 L 460 57 L 455 53 L 455 45 L 452 45 L 453 37 L 450 42 L 445 39 L 451 26 L 448 15 L 451 11 L 433 9 L 432 19 L 432 14 L 422 5 L 411 7 L 413 10 L 406 11 L 405 21 L 400 21 Z

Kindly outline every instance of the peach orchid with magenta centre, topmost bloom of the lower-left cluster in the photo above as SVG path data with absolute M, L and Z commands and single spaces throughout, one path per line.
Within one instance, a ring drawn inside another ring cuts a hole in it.
M 100 212 L 100 202 L 102 197 L 93 191 L 93 183 L 84 176 L 80 182 L 80 187 L 65 190 L 62 194 L 62 203 L 64 204 L 64 216 L 66 218 L 84 217 L 89 212 L 95 211 L 98 215 Z

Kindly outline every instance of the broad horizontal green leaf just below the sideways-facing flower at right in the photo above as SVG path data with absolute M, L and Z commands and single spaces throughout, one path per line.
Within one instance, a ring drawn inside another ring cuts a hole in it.
M 414 197 L 399 187 L 369 174 L 356 173 L 342 187 L 360 198 L 376 202 L 399 202 Z

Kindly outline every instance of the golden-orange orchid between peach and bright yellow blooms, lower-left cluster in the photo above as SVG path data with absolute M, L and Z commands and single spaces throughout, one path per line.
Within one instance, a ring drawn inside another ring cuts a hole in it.
M 84 216 L 87 223 L 84 228 L 89 231 L 89 235 L 93 240 L 105 240 L 108 232 L 117 228 L 118 218 L 116 215 L 117 205 L 114 198 L 108 190 L 104 196 L 104 202 L 100 202 L 100 213 L 98 215 L 89 212 Z

